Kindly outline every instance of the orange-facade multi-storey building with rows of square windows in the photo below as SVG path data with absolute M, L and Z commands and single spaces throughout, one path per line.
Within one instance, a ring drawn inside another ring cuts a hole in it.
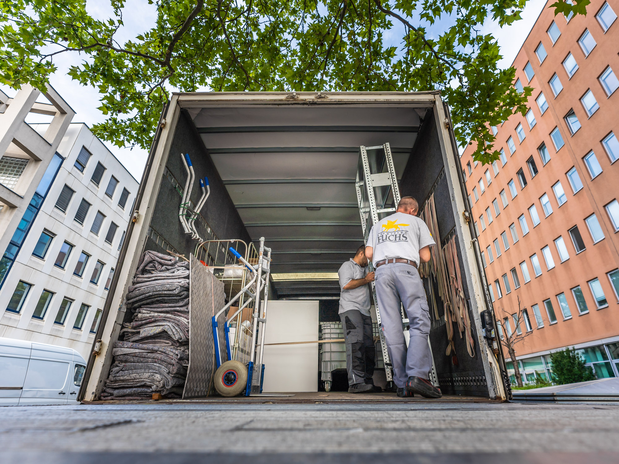
M 571 18 L 551 3 L 513 63 L 529 112 L 491 128 L 500 160 L 467 147 L 461 165 L 496 317 L 530 332 L 515 346 L 523 380 L 565 346 L 619 377 L 619 1 Z

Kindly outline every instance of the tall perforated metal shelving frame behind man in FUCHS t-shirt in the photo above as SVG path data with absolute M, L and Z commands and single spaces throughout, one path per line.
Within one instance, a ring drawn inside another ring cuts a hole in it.
M 359 215 L 361 217 L 361 227 L 363 228 L 363 241 L 368 243 L 368 236 L 372 226 L 386 215 L 396 212 L 397 204 L 400 201 L 400 189 L 397 186 L 396 168 L 393 163 L 389 142 L 376 147 L 365 147 L 363 145 L 359 147 L 355 189 L 357 190 Z M 387 205 L 389 206 L 387 207 Z M 372 263 L 370 262 L 369 265 L 370 270 L 373 271 Z M 374 282 L 372 282 L 372 297 L 374 299 L 374 307 L 376 307 L 376 319 L 380 327 L 381 312 L 376 300 L 376 286 Z M 406 317 L 404 308 L 400 307 L 400 312 L 404 329 L 404 327 L 409 325 L 409 319 Z M 378 333 L 381 340 L 381 351 L 383 351 L 387 382 L 392 382 L 393 367 L 389 353 L 387 353 L 387 343 L 383 330 L 379 330 Z M 428 338 L 429 344 L 430 339 Z M 438 385 L 434 360 L 432 361 L 430 380 L 433 384 Z

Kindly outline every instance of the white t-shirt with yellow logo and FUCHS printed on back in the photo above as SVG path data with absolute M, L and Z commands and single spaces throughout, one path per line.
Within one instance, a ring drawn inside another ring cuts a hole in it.
M 373 264 L 387 258 L 405 258 L 419 265 L 419 250 L 435 244 L 422 219 L 410 214 L 394 213 L 372 226 L 366 246 L 374 249 Z

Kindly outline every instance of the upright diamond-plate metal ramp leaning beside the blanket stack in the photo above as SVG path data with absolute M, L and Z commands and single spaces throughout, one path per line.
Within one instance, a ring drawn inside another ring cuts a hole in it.
M 214 277 L 196 257 L 189 256 L 189 367 L 183 399 L 212 395 L 215 364 L 212 317 L 225 304 L 223 282 Z M 223 329 L 225 314 L 218 321 Z M 222 363 L 227 360 L 223 330 L 220 330 Z

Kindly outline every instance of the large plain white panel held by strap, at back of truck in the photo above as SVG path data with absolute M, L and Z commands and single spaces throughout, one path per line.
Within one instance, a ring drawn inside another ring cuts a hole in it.
M 264 343 L 318 340 L 318 301 L 269 301 Z M 318 343 L 264 347 L 267 392 L 317 392 Z

